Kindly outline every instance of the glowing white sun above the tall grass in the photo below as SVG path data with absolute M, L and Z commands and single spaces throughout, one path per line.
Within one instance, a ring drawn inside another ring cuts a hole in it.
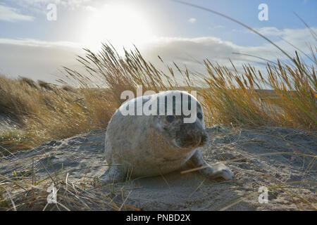
M 83 27 L 82 44 L 94 50 L 105 41 L 116 49 L 129 49 L 133 44 L 146 44 L 152 37 L 147 18 L 132 6 L 107 4 L 93 11 Z

